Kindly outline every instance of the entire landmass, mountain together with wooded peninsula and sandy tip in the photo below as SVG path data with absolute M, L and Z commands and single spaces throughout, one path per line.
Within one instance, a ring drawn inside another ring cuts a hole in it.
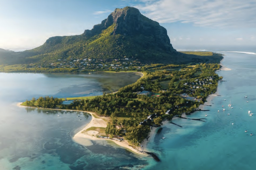
M 142 72 L 144 76 L 137 82 L 115 93 L 72 99 L 47 96 L 21 105 L 88 112 L 92 121 L 74 140 L 112 139 L 148 154 L 141 151 L 145 148 L 141 143 L 150 129 L 161 126 L 163 120 L 190 114 L 216 92 L 222 78 L 215 71 L 220 69 L 222 58 L 213 52 L 177 52 L 164 27 L 138 9 L 125 7 L 81 35 L 51 37 L 42 46 L 24 52 L 0 50 L 4 63 L 0 71 Z M 64 100 L 73 101 L 63 104 Z

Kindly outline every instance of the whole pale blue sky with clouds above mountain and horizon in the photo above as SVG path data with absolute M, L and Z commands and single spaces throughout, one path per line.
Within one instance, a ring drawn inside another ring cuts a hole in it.
M 126 6 L 165 27 L 175 49 L 256 47 L 256 0 L 0 0 L 0 48 L 21 51 L 82 34 Z

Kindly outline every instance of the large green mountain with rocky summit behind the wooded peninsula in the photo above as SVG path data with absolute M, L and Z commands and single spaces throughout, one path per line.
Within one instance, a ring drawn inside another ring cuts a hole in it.
M 177 52 L 166 29 L 133 7 L 115 9 L 107 19 L 81 35 L 51 37 L 40 47 L 12 53 L 13 57 L 16 63 L 52 63 L 71 58 L 106 62 L 129 58 L 141 63 L 191 63 L 210 59 Z

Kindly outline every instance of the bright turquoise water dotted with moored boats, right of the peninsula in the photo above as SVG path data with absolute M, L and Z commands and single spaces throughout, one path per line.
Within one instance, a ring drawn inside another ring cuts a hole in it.
M 204 107 L 210 111 L 188 116 L 206 118 L 206 122 L 175 118 L 173 122 L 182 128 L 167 124 L 148 146 L 162 162 L 149 161 L 145 169 L 255 169 L 256 114 L 249 116 L 248 110 L 256 113 L 256 55 L 222 53 L 225 54 L 222 64 L 231 70 L 218 71 L 227 81 L 219 83 L 217 94 L 221 96 L 210 100 L 211 107 Z M 228 107 L 230 100 L 233 109 Z M 162 137 L 166 138 L 162 140 Z

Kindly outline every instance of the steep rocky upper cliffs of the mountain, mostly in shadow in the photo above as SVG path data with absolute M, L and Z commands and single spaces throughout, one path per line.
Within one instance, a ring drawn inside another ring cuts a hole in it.
M 160 26 L 158 22 L 143 16 L 138 9 L 133 7 L 115 9 L 107 19 L 95 25 L 92 30 L 85 30 L 83 34 L 85 37 L 94 36 L 112 24 L 115 24 L 112 32 L 114 35 L 139 36 L 142 34 L 153 38 L 158 47 L 170 52 L 176 52 L 170 43 L 166 29 Z

